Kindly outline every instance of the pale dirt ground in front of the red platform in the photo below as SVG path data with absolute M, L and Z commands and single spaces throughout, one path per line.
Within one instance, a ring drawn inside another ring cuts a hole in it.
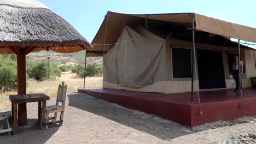
M 55 103 L 52 97 L 47 105 Z M 69 93 L 64 122 L 40 130 L 37 103 L 28 103 L 28 125 L 18 136 L 0 135 L 0 143 L 254 143 L 256 117 L 187 128 L 143 112 Z M 0 109 L 6 111 L 8 109 Z

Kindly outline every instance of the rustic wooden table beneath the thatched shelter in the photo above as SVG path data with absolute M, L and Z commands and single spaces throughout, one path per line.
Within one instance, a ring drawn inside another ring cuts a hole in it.
M 36 94 L 15 94 L 10 95 L 9 99 L 11 101 L 11 117 L 13 119 L 13 134 L 17 135 L 18 133 L 18 118 L 17 118 L 17 108 L 18 104 L 38 102 L 38 122 L 43 128 L 43 123 L 45 119 L 45 109 L 46 109 L 46 100 L 49 100 L 46 94 L 36 93 Z M 43 103 L 43 105 L 42 105 Z

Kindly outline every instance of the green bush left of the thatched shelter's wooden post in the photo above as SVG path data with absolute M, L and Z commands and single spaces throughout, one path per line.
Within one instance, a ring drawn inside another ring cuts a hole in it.
M 17 67 L 16 62 L 7 57 L 0 57 L 0 91 L 11 91 L 17 89 Z

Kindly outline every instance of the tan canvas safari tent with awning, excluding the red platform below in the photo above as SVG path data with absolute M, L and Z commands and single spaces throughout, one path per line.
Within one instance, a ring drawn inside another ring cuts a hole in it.
M 255 50 L 247 41 L 256 42 L 255 28 L 200 14 L 108 11 L 86 56 L 103 56 L 103 88 L 183 93 L 235 88 L 230 75 L 239 54 L 245 88 L 256 76 Z

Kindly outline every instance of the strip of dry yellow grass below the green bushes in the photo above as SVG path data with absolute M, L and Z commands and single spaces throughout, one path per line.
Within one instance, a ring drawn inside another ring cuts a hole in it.
M 45 93 L 50 97 L 55 97 L 57 94 L 58 85 L 64 81 L 68 87 L 67 91 L 77 92 L 78 88 L 84 87 L 84 79 L 81 79 L 76 74 L 71 72 L 62 73 L 60 78 L 50 81 L 28 80 L 27 93 Z M 102 77 L 86 77 L 85 88 L 101 88 Z M 0 109 L 10 106 L 9 95 L 17 94 L 17 92 L 0 93 Z

